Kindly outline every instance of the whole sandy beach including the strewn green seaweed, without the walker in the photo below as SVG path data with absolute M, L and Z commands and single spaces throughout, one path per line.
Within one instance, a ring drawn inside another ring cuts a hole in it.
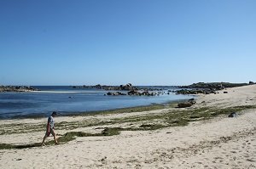
M 0 149 L 0 167 L 253 168 L 256 85 L 224 91 L 189 108 L 56 117 L 56 146 L 36 146 L 46 119 L 1 121 L 1 144 L 23 147 Z

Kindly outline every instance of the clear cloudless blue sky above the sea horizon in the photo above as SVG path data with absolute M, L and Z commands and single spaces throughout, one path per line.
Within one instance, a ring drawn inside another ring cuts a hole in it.
M 0 85 L 249 81 L 255 0 L 0 0 Z

